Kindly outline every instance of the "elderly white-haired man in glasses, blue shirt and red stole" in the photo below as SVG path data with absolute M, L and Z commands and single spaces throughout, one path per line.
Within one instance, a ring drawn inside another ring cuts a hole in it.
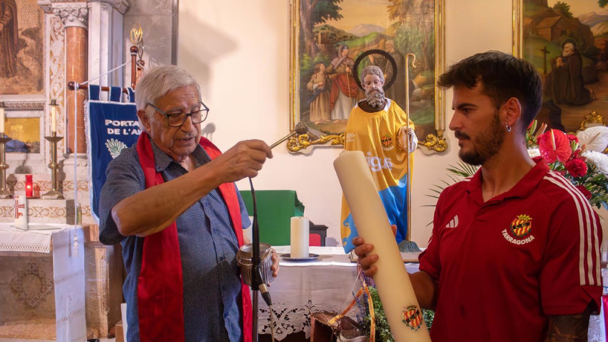
M 249 341 L 236 254 L 250 222 L 233 182 L 272 152 L 250 140 L 222 154 L 201 138 L 209 108 L 176 66 L 148 70 L 136 104 L 143 133 L 110 162 L 100 196 L 100 241 L 123 247 L 127 340 Z

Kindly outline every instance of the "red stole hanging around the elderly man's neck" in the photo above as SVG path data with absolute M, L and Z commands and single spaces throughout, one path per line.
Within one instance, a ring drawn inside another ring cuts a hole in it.
M 199 142 L 211 159 L 221 155 L 209 140 Z M 137 155 L 146 180 L 146 189 L 164 183 L 154 166 L 154 152 L 148 134 L 143 132 L 137 139 Z M 230 220 L 237 234 L 238 246 L 243 245 L 241 209 L 234 183 L 219 186 L 224 197 Z M 241 279 L 243 301 L 243 338 L 251 341 L 251 296 L 249 287 Z M 151 341 L 184 341 L 184 285 L 182 260 L 179 254 L 178 228 L 175 222 L 160 232 L 143 238 L 142 269 L 137 282 L 137 312 L 139 315 L 139 339 Z M 213 315 L 213 313 L 209 313 Z

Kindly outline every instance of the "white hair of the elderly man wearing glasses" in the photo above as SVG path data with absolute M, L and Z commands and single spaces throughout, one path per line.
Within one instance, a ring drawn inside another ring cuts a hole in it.
M 148 69 L 137 83 L 135 95 L 137 110 L 145 111 L 148 118 L 151 118 L 154 114 L 154 108 L 148 106 L 148 103 L 156 105 L 156 101 L 169 92 L 190 85 L 196 87 L 200 99 L 201 87 L 194 77 L 184 69 L 174 65 L 161 65 Z M 139 120 L 139 127 L 145 131 L 141 120 Z

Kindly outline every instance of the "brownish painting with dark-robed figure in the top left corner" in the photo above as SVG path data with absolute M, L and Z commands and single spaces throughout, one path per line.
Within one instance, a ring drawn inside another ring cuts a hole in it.
M 36 0 L 0 0 L 0 95 L 44 94 L 44 13 Z

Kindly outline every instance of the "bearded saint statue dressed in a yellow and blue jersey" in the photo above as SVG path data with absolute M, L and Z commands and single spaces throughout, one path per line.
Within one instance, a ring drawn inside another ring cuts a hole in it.
M 399 105 L 384 96 L 384 74 L 378 66 L 361 71 L 365 99 L 351 110 L 345 130 L 344 149 L 362 151 L 370 166 L 382 204 L 392 225 L 397 227 L 396 242 L 407 237 L 407 153 L 416 149 L 418 139 L 413 122 Z M 409 129 L 407 128 L 409 126 Z M 357 236 L 353 215 L 342 196 L 340 217 L 342 245 L 345 251 L 354 248 Z

